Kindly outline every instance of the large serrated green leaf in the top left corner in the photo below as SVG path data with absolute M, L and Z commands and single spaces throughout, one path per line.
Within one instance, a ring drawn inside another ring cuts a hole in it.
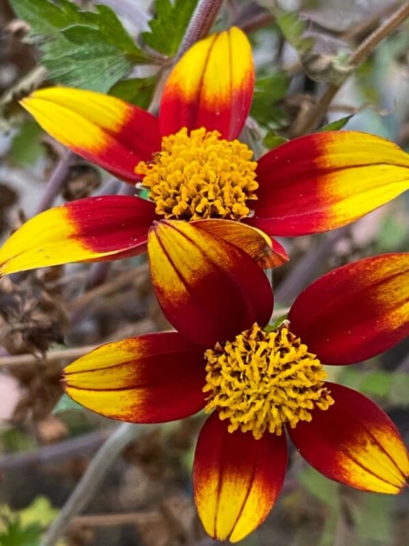
M 31 26 L 49 77 L 59 84 L 107 92 L 136 62 L 148 62 L 115 12 L 81 10 L 68 0 L 10 0 Z M 46 16 L 47 14 L 47 16 Z

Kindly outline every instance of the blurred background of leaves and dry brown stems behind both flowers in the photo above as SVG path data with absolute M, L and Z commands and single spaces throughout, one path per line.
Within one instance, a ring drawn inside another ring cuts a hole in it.
M 38 211 L 57 164 L 55 203 L 120 191 L 107 173 L 67 155 L 21 110 L 34 88 L 62 84 L 109 92 L 157 112 L 160 86 L 196 0 L 2 0 L 0 3 L 0 239 Z M 409 149 L 408 21 L 358 68 L 348 58 L 393 0 L 226 0 L 215 29 L 237 24 L 256 62 L 242 138 L 256 155 L 302 133 L 328 85 L 339 92 L 314 129 L 356 129 Z M 291 260 L 274 271 L 276 301 L 334 266 L 409 248 L 408 197 L 332 234 L 285 239 Z M 101 270 L 99 271 L 101 275 Z M 85 288 L 84 288 L 85 287 Z M 0 280 L 0 545 L 40 545 L 114 423 L 62 397 L 60 369 L 107 340 L 168 327 L 144 258 L 44 269 Z M 84 349 L 81 349 L 83 348 Z M 408 342 L 330 379 L 377 400 L 409 438 Z M 68 352 L 67 352 L 68 351 Z M 46 357 L 47 354 L 47 357 Z M 189 473 L 202 416 L 155 427 L 116 460 L 60 546 L 210 545 Z M 272 514 L 246 546 L 404 546 L 409 495 L 349 490 L 307 469 L 298 454 Z

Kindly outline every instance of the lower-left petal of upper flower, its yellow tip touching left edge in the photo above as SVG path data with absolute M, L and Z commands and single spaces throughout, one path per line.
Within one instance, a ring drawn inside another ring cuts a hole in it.
M 0 249 L 0 275 L 36 267 L 118 260 L 146 251 L 155 205 L 106 195 L 71 201 L 34 216 Z

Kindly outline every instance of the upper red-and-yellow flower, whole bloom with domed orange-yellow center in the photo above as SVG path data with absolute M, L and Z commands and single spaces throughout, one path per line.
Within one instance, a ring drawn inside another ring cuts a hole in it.
M 246 240 L 263 266 L 276 266 L 287 256 L 270 236 L 340 227 L 408 188 L 408 155 L 360 132 L 310 134 L 254 161 L 236 140 L 253 88 L 250 43 L 233 27 L 200 40 L 174 66 L 159 118 L 88 90 L 52 87 L 23 99 L 51 136 L 144 186 L 150 201 L 106 195 L 47 210 L 5 243 L 0 274 L 134 256 L 163 217 L 200 222 L 235 244 Z

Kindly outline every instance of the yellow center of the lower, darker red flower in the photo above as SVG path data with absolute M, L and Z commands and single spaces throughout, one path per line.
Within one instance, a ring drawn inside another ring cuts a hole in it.
M 326 371 L 316 356 L 282 325 L 265 332 L 254 324 L 235 340 L 205 352 L 209 393 L 205 410 L 228 419 L 229 432 L 266 430 L 282 434 L 285 423 L 311 421 L 311 410 L 327 410 L 334 400 L 324 386 Z

